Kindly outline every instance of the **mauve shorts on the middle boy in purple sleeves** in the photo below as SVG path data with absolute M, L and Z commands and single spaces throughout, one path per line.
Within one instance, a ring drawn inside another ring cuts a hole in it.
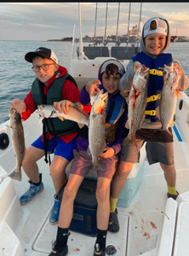
M 86 177 L 92 165 L 92 156 L 85 150 L 73 149 L 74 159 L 72 161 L 72 166 L 70 173 L 76 174 L 82 177 Z M 106 177 L 112 180 L 113 174 L 116 172 L 117 167 L 117 154 L 113 155 L 111 158 L 99 157 L 100 166 L 102 170 L 96 170 L 98 177 Z

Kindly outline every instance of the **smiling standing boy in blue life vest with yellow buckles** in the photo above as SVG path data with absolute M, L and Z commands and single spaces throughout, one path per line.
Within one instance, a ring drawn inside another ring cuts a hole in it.
M 117 219 L 117 199 L 120 195 L 135 163 L 140 160 L 140 148 L 146 142 L 146 156 L 150 165 L 160 163 L 164 177 L 168 185 L 168 197 L 177 198 L 178 192 L 175 189 L 175 162 L 173 149 L 173 135 L 171 127 L 169 131 L 160 131 L 162 127 L 154 111 L 159 108 L 159 96 L 163 88 L 163 67 L 169 66 L 172 59 L 171 54 L 164 54 L 170 43 L 169 23 L 162 18 L 152 18 L 146 21 L 143 27 L 140 40 L 141 52 L 132 56 L 127 66 L 126 73 L 119 82 L 119 90 L 129 91 L 133 82 L 136 70 L 141 64 L 150 68 L 150 78 L 147 89 L 146 116 L 139 130 L 136 131 L 137 147 L 132 144 L 122 146 L 119 155 L 117 171 L 112 179 L 111 213 L 108 230 L 117 232 L 119 230 Z M 179 90 L 186 90 L 189 79 L 186 77 L 180 63 L 174 61 L 175 68 L 180 69 L 181 77 Z

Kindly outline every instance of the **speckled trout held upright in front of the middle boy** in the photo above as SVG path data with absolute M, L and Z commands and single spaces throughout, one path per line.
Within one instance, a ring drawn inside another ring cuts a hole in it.
M 91 96 L 90 98 L 92 108 L 89 116 L 88 153 L 92 155 L 91 170 L 103 170 L 98 158 L 106 147 L 105 126 L 107 102 L 108 93 L 103 94 L 103 90 L 100 90 L 96 96 Z

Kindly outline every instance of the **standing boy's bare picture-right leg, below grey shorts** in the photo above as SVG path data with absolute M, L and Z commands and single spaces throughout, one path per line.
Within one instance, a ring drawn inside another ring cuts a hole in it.
M 164 171 L 164 177 L 169 187 L 175 187 L 176 183 L 176 171 L 175 171 L 175 165 L 164 165 L 162 163 L 159 163 Z

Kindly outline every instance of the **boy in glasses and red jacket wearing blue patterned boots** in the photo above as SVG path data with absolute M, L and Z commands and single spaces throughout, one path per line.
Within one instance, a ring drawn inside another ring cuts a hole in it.
M 22 102 L 14 99 L 12 108 L 20 110 L 22 119 L 26 120 L 37 109 L 37 105 L 57 104 L 60 102 L 65 111 L 72 102 L 80 102 L 80 91 L 77 84 L 65 67 L 58 64 L 57 56 L 52 49 L 39 47 L 35 51 L 28 52 L 26 61 L 32 63 L 32 70 L 37 78 L 31 86 L 31 91 Z M 56 102 L 56 103 L 54 103 Z M 55 106 L 54 106 L 55 107 Z M 66 166 L 73 158 L 73 148 L 76 148 L 78 125 L 76 122 L 58 118 L 43 119 L 43 136 L 31 144 L 26 150 L 22 167 L 30 178 L 30 188 L 20 197 L 20 204 L 25 205 L 43 190 L 42 173 L 38 172 L 37 160 L 47 152 L 54 153 L 54 158 L 49 166 L 53 179 L 55 195 L 54 207 L 50 214 L 50 224 L 57 224 L 59 220 L 60 202 L 57 195 L 64 183 L 67 181 Z

